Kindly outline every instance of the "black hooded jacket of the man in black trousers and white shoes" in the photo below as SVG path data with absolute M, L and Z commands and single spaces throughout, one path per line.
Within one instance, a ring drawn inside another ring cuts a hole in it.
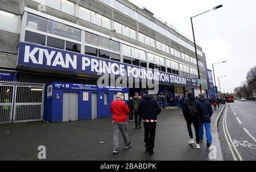
M 196 116 L 189 115 L 188 106 L 191 103 L 195 104 L 197 110 Z M 199 103 L 196 102 L 196 98 L 194 95 L 191 95 L 190 97 L 188 97 L 188 99 L 185 100 L 185 102 L 182 105 L 182 112 L 186 121 L 200 120 L 200 117 L 203 114 L 202 108 L 199 105 Z

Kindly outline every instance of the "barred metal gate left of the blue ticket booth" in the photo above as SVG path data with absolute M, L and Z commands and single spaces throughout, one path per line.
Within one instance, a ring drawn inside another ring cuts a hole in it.
M 0 124 L 43 120 L 43 85 L 0 83 Z

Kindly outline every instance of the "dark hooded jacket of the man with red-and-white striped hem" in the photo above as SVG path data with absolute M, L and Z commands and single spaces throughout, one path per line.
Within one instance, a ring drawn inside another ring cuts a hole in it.
M 161 107 L 158 101 L 150 94 L 142 96 L 138 105 L 139 116 L 143 120 L 156 120 L 156 116 L 160 114 Z

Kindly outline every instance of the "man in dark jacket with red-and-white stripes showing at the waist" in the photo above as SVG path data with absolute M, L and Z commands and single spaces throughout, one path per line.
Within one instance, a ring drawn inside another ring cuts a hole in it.
M 160 112 L 161 107 L 158 101 L 152 95 L 149 95 L 148 91 L 143 91 L 143 96 L 138 106 L 138 113 L 143 120 L 144 142 L 146 143 L 146 151 L 150 155 L 154 154 L 156 116 Z

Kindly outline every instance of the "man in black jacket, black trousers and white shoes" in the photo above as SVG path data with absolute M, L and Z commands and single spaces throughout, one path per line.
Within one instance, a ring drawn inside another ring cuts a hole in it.
M 200 117 L 202 116 L 203 111 L 199 103 L 196 102 L 193 93 L 188 93 L 188 99 L 183 103 L 182 112 L 187 121 L 188 134 L 191 138 L 191 140 L 188 141 L 188 144 L 195 144 L 191 129 L 191 124 L 193 124 L 196 132 L 196 148 L 200 149 Z

